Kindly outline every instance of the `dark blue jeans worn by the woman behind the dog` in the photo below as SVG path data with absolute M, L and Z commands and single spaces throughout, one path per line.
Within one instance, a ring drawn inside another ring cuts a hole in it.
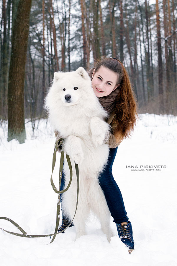
M 104 192 L 107 205 L 110 213 L 114 218 L 115 223 L 127 222 L 127 212 L 125 210 L 124 201 L 119 187 L 112 176 L 112 165 L 117 153 L 117 148 L 109 149 L 108 163 L 104 171 L 99 175 L 99 184 Z M 61 187 L 64 188 L 64 175 L 62 173 Z M 62 206 L 62 195 L 61 195 L 61 206 Z

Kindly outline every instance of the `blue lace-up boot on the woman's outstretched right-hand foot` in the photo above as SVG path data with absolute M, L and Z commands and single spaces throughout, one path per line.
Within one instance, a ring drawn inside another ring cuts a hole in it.
M 128 252 L 131 253 L 134 250 L 133 231 L 131 222 L 117 223 L 118 236 L 122 243 L 128 248 Z

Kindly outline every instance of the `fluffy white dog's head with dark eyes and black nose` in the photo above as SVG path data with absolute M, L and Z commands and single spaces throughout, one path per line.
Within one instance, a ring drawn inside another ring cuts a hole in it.
M 83 67 L 72 72 L 55 72 L 50 93 L 64 106 L 78 104 L 93 93 L 91 80 Z

